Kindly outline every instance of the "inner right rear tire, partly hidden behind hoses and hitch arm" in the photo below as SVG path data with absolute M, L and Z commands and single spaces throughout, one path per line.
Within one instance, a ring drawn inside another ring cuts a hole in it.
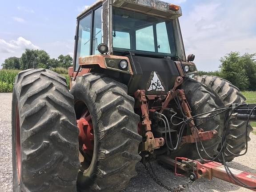
M 186 99 L 188 100 L 188 104 L 192 110 L 192 116 L 210 112 L 200 117 L 208 117 L 216 114 L 213 112 L 214 110 L 220 108 L 215 100 L 215 95 L 208 91 L 204 85 L 200 84 L 196 80 L 186 78 L 183 84 L 179 87 L 180 89 L 184 89 Z M 216 130 L 218 135 L 210 140 L 203 141 L 203 146 L 207 154 L 211 157 L 214 157 L 218 151 L 217 148 L 220 144 L 221 135 L 224 130 L 223 121 L 221 120 L 222 116 L 214 116 L 205 119 L 197 119 L 194 120 L 196 128 L 203 129 L 204 131 L 213 131 Z M 189 127 L 187 126 L 188 130 Z M 191 132 L 187 132 L 191 135 Z M 198 150 L 200 155 L 204 159 L 211 159 L 207 154 L 204 152 L 199 140 L 197 140 Z M 196 149 L 196 143 L 192 144 L 184 144 L 181 146 L 180 149 L 176 150 L 171 154 L 172 157 L 188 157 L 190 159 L 199 159 L 200 156 Z

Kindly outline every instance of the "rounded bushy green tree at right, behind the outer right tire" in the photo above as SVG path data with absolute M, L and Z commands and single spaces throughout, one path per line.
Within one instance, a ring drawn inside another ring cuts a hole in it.
M 220 76 L 241 90 L 249 87 L 249 80 L 239 52 L 231 52 L 220 58 Z

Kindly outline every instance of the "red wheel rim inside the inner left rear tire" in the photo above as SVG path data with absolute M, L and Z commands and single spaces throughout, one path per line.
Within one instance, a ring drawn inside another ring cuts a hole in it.
M 83 112 L 80 112 L 80 117 L 76 120 L 77 127 L 79 128 L 79 148 L 80 153 L 84 156 L 84 161 L 81 165 L 87 169 L 91 162 L 94 149 L 94 134 L 92 117 L 88 108 L 84 105 Z

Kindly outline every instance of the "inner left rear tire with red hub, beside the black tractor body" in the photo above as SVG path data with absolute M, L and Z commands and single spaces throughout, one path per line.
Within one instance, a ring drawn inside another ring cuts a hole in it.
M 126 85 L 98 73 L 78 76 L 71 93 L 81 133 L 78 190 L 119 192 L 136 176 L 141 159 L 134 99 Z

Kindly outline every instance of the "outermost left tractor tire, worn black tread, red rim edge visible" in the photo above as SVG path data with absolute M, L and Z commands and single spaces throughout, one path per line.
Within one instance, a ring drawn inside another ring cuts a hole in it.
M 76 192 L 78 129 L 66 80 L 47 69 L 16 76 L 12 94 L 14 192 Z

